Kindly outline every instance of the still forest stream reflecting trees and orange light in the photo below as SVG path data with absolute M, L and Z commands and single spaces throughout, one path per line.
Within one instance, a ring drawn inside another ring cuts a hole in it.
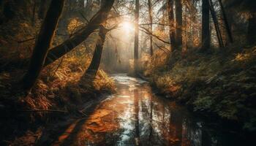
M 113 74 L 113 79 L 117 93 L 102 101 L 89 118 L 72 123 L 53 145 L 243 144 L 238 134 L 208 127 L 186 108 L 156 96 L 148 82 L 125 74 Z

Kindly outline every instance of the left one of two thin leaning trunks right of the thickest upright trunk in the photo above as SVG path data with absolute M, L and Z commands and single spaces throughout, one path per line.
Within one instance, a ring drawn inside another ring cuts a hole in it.
M 220 29 L 219 29 L 219 22 L 218 22 L 218 19 L 217 19 L 216 12 L 214 10 L 214 3 L 212 2 L 212 0 L 208 0 L 208 4 L 209 4 L 210 11 L 211 11 L 212 20 L 214 20 L 214 27 L 215 27 L 216 34 L 217 34 L 219 47 L 224 47 L 224 43 L 223 43 L 223 40 L 222 40 L 222 34 L 220 32 Z

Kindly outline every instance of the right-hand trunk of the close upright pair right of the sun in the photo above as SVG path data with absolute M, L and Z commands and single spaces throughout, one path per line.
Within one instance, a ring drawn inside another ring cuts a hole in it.
M 181 0 L 175 1 L 176 7 L 176 45 L 182 47 L 182 4 Z

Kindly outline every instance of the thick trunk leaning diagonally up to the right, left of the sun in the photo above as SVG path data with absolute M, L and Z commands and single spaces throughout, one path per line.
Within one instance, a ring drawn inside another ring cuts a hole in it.
M 70 50 L 74 49 L 76 46 L 80 45 L 91 33 L 93 33 L 99 26 L 105 22 L 108 18 L 108 12 L 112 8 L 114 0 L 105 1 L 104 6 L 99 9 L 97 14 L 89 21 L 89 23 L 82 29 L 82 31 L 75 34 L 72 38 L 67 39 L 61 45 L 53 47 L 50 49 L 47 58 L 45 60 L 45 66 L 53 63 L 61 56 L 69 53 Z

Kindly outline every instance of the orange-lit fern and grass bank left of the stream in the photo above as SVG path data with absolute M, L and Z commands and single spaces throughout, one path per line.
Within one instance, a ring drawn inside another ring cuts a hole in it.
M 30 145 L 45 124 L 84 117 L 87 109 L 94 107 L 103 95 L 115 92 L 114 82 L 105 72 L 99 70 L 94 80 L 89 80 L 78 63 L 69 58 L 59 69 L 53 67 L 54 72 L 44 69 L 28 96 L 13 90 L 26 70 L 6 69 L 0 73 L 0 116 L 4 119 L 0 122 L 0 145 L 10 142 Z M 15 137 L 19 138 L 14 140 Z

